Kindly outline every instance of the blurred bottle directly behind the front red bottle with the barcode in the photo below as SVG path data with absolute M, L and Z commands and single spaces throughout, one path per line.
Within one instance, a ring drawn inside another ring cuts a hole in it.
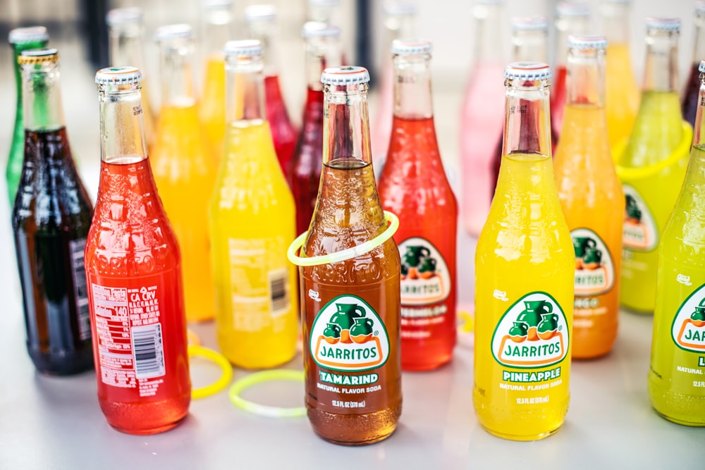
M 147 149 L 152 148 L 156 137 L 156 119 L 152 111 L 145 70 L 144 35 L 145 25 L 142 10 L 137 7 L 114 8 L 105 16 L 108 25 L 110 65 L 133 66 L 142 71 L 142 115 L 145 119 Z

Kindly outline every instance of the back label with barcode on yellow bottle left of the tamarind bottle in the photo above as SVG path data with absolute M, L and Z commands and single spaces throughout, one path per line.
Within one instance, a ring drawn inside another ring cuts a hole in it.
M 272 263 L 272 253 L 281 262 Z M 228 239 L 233 328 L 260 331 L 291 308 L 289 268 L 283 237 Z

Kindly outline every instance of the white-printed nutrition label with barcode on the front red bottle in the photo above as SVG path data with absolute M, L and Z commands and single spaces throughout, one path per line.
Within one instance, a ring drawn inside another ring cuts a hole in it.
M 140 397 L 157 394 L 164 376 L 160 323 L 163 287 L 107 287 L 91 284 L 100 360 L 106 385 L 138 388 Z

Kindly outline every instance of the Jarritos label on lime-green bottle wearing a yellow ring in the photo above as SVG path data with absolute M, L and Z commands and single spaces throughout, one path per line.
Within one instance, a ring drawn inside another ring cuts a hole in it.
M 658 230 L 654 216 L 641 194 L 630 185 L 622 185 L 625 197 L 623 243 L 625 249 L 650 252 L 658 245 Z

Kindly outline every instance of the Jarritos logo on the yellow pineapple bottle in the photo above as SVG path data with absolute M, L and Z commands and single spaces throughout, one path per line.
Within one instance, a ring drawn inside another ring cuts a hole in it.
M 551 366 L 563 361 L 569 341 L 568 322 L 556 299 L 546 292 L 531 292 L 500 319 L 492 336 L 492 355 L 505 366 Z

